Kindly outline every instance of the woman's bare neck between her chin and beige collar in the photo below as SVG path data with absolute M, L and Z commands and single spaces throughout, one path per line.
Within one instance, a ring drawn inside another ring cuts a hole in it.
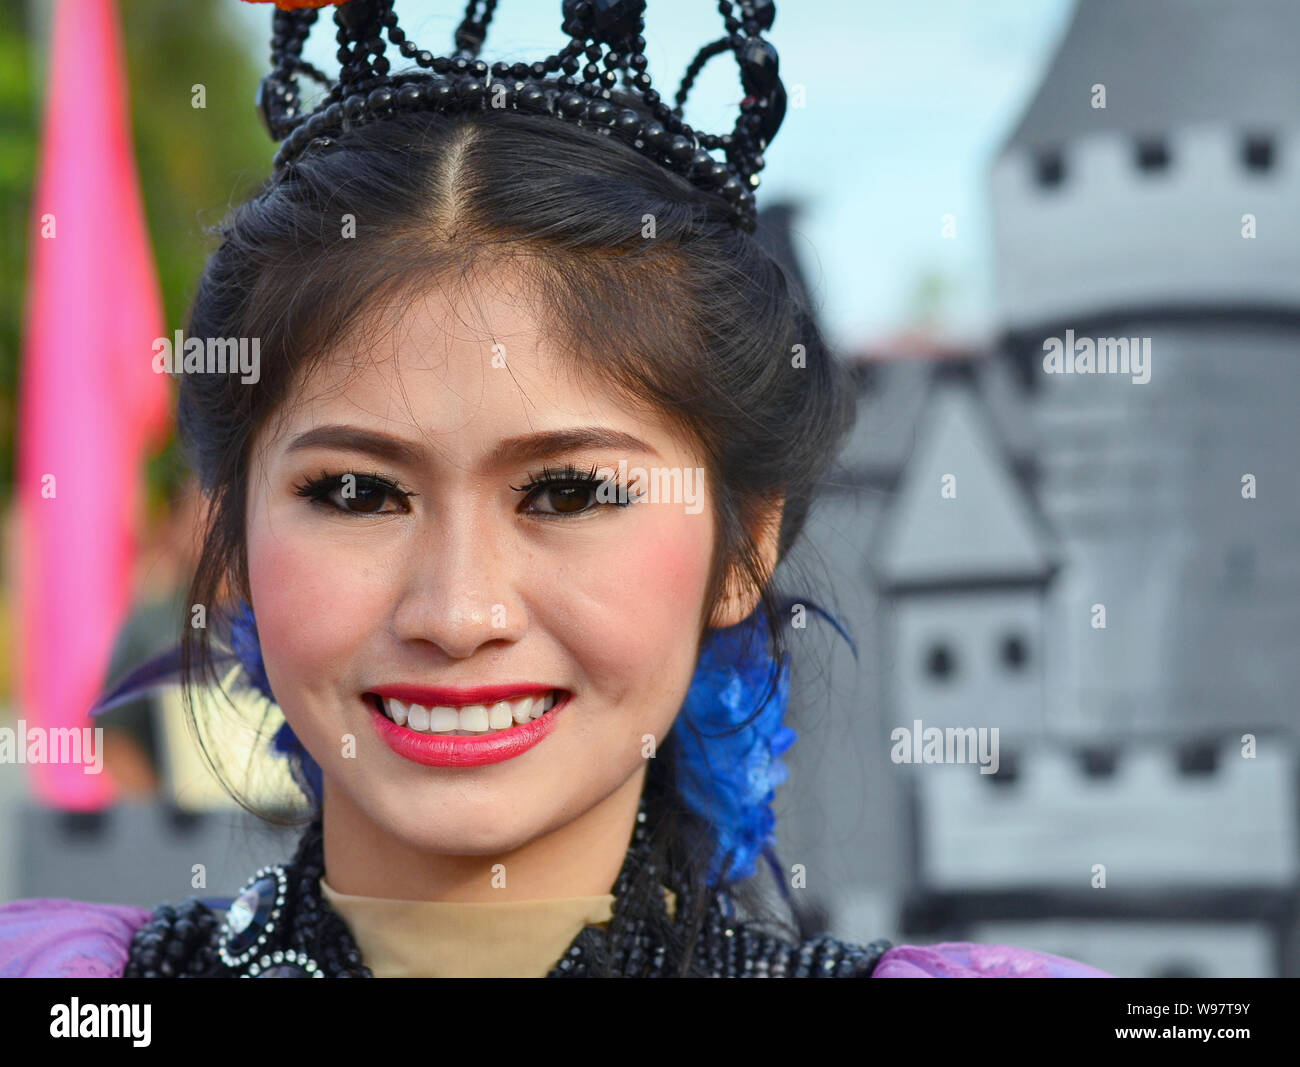
M 610 893 L 632 840 L 645 773 L 560 829 L 489 855 L 412 847 L 326 781 L 325 880 L 335 893 L 399 901 L 503 903 Z

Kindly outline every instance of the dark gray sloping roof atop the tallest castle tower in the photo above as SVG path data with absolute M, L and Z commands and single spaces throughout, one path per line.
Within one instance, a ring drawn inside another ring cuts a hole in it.
M 1106 130 L 1300 123 L 1300 1 L 1079 0 L 1004 153 Z M 1105 109 L 1091 90 L 1106 87 Z

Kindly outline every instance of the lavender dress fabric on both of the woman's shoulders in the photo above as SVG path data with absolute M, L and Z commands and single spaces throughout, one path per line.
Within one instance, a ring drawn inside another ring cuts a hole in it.
M 0 905 L 0 977 L 117 979 L 142 907 L 34 898 Z M 1109 979 L 1105 971 L 1008 945 L 898 945 L 874 979 Z

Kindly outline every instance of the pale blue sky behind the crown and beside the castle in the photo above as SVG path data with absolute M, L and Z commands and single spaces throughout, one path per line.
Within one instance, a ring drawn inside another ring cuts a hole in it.
M 265 55 L 269 5 L 233 4 Z M 533 60 L 562 43 L 559 0 L 500 0 L 488 60 Z M 979 339 L 992 324 L 988 166 L 1041 77 L 1072 0 L 785 0 L 768 39 L 786 91 L 803 86 L 767 152 L 759 204 L 796 199 L 800 256 L 832 341 L 848 348 L 905 329 L 918 279 L 948 279 L 940 331 Z M 407 34 L 447 52 L 464 4 L 399 0 Z M 710 0 L 649 0 L 646 53 L 664 95 L 720 35 Z M 307 58 L 337 70 L 333 25 Z M 698 129 L 724 131 L 741 96 L 734 62 L 714 58 L 686 104 Z M 957 238 L 940 237 L 941 216 Z

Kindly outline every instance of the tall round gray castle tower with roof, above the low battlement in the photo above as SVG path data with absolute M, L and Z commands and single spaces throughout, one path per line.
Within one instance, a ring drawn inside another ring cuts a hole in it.
M 1296 40 L 1290 0 L 1082 0 L 993 166 L 1066 732 L 1295 729 Z M 1045 346 L 1123 373 L 1049 373 Z

